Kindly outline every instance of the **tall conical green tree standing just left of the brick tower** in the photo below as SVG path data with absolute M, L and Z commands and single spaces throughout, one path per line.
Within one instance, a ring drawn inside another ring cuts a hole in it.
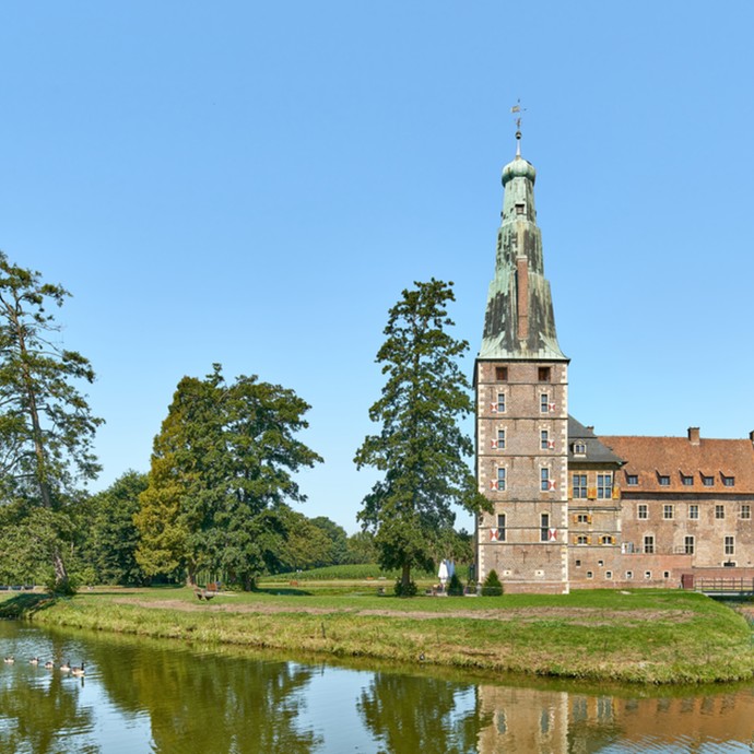
M 470 385 L 458 365 L 469 344 L 447 332 L 452 283 L 414 283 L 389 311 L 377 353 L 387 381 L 369 409 L 381 432 L 368 435 L 354 461 L 384 472 L 364 498 L 358 519 L 375 532 L 379 564 L 401 569 L 403 593 L 411 568 L 434 569 L 455 540 L 453 504 L 488 508 L 464 461 L 471 438 L 458 422 L 472 413 Z

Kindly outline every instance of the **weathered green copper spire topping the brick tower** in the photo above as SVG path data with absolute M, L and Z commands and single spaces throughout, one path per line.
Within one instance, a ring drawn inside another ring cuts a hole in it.
M 503 168 L 503 222 L 497 233 L 495 278 L 490 283 L 480 358 L 566 360 L 557 344 L 542 236 L 534 210 L 534 166 L 516 157 Z

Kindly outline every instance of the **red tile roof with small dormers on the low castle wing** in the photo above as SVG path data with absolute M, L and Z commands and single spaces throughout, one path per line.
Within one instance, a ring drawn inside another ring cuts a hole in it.
M 624 492 L 633 488 L 647 492 L 682 492 L 718 494 L 754 494 L 754 444 L 751 439 L 699 439 L 687 437 L 605 437 L 600 440 L 626 461 L 616 473 Z M 638 476 L 638 486 L 627 485 L 629 475 Z M 692 486 L 683 484 L 682 475 L 693 476 Z M 712 476 L 712 486 L 705 486 L 702 476 Z M 660 476 L 669 476 L 670 485 L 660 485 Z M 733 486 L 723 484 L 723 476 L 733 478 Z

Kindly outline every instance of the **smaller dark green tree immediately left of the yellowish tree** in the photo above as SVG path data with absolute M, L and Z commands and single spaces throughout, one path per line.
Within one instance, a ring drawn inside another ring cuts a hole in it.
M 103 584 L 133 585 L 144 581 L 136 557 L 139 529 L 133 521 L 139 495 L 146 490 L 146 474 L 127 471 L 93 496 L 87 528 L 87 561 Z

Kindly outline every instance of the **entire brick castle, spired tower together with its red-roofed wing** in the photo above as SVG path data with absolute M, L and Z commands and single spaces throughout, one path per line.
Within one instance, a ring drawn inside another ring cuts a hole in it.
M 754 432 L 749 439 L 599 437 L 568 413 L 534 167 L 503 168 L 495 276 L 474 365 L 476 479 L 493 513 L 476 521 L 476 573 L 508 592 L 754 587 Z

